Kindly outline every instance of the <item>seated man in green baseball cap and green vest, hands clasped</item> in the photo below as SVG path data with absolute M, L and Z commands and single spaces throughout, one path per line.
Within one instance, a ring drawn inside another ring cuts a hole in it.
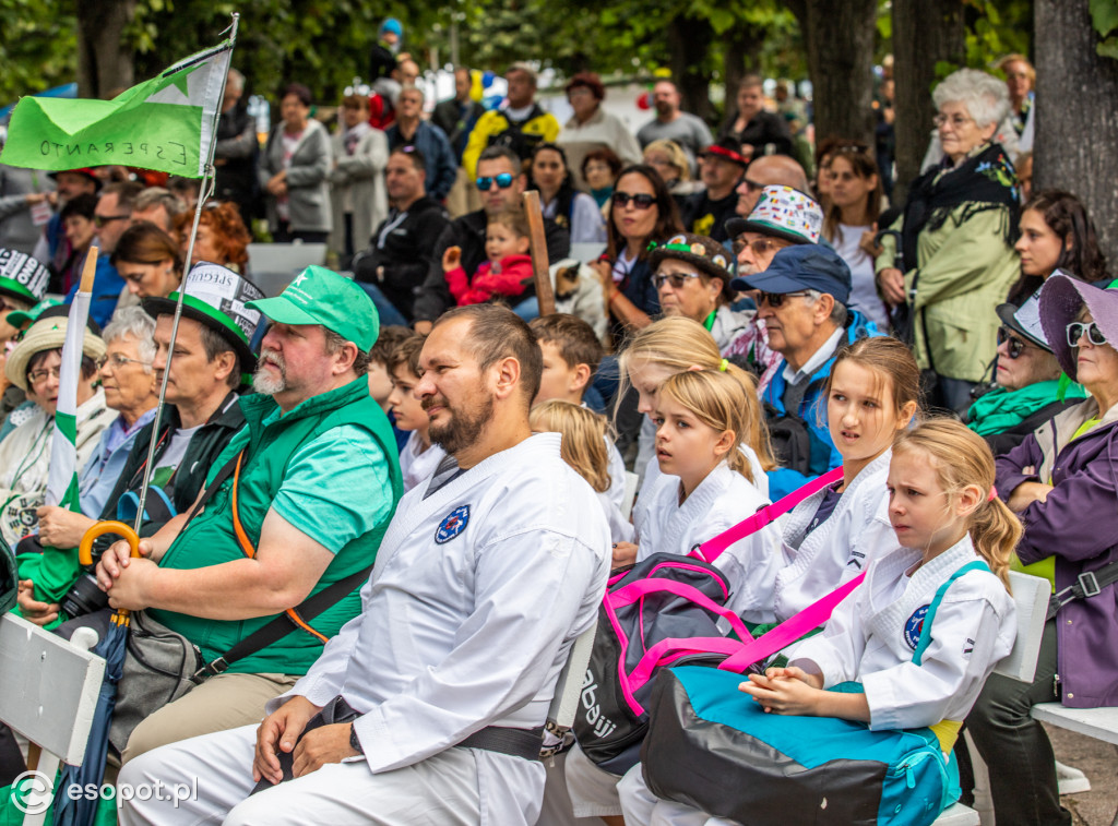
M 291 632 L 231 663 L 132 732 L 123 760 L 164 743 L 259 721 L 267 700 L 305 674 L 361 608 L 360 586 L 309 621 L 307 597 L 372 564 L 400 496 L 388 419 L 364 377 L 377 340 L 372 302 L 358 285 L 309 267 L 275 298 L 246 306 L 272 326 L 260 342 L 246 426 L 210 468 L 205 506 L 97 567 L 113 607 L 182 634 L 207 663 L 277 616 Z M 212 490 L 211 490 L 212 488 Z M 126 561 L 127 560 L 127 561 Z M 122 684 L 122 694 L 126 686 Z

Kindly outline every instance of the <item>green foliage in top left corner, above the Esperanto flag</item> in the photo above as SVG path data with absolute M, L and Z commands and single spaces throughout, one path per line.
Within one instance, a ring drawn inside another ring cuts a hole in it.
M 65 0 L 0 0 L 0 105 L 75 79 L 77 19 Z

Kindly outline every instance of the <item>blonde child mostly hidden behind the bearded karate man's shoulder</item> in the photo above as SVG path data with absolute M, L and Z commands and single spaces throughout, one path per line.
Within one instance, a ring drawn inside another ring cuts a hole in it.
M 563 462 L 574 467 L 598 494 L 598 501 L 609 521 L 613 541 L 631 541 L 633 525 L 609 499 L 612 480 L 609 453 L 606 449 L 609 440 L 606 437 L 605 417 L 579 405 L 552 399 L 536 405 L 528 420 L 532 426 L 532 433 L 562 434 L 559 453 Z

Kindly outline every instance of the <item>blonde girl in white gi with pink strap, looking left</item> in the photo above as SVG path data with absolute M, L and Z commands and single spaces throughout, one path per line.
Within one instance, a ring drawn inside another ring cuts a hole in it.
M 769 504 L 740 449 L 752 390 L 751 382 L 717 370 L 688 370 L 660 387 L 653 421 L 661 475 L 635 523 L 638 561 L 689 553 Z M 730 545 L 714 562 L 730 582 L 727 607 L 747 624 L 770 623 L 783 561 L 776 524 Z

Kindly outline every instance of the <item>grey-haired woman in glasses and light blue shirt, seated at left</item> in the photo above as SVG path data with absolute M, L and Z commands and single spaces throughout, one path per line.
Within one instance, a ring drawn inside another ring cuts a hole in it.
M 78 477 L 82 512 L 55 505 L 39 509 L 42 544 L 77 547 L 82 534 L 102 515 L 136 435 L 155 418 L 159 384 L 151 365 L 155 359 L 154 332 L 155 320 L 140 307 L 117 310 L 105 327 L 101 387 L 105 403 L 120 415 L 102 431 L 96 450 Z

